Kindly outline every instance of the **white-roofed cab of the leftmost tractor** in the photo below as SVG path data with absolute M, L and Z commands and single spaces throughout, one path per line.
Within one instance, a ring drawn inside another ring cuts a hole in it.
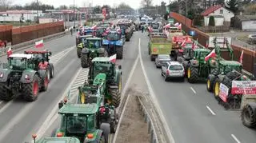
M 8 58 L 8 67 L 10 70 L 26 70 L 34 69 L 34 65 L 30 62 L 33 58 L 32 54 L 11 54 Z

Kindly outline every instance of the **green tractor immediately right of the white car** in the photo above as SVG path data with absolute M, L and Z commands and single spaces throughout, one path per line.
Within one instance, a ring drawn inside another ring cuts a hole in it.
M 210 54 L 208 49 L 194 50 L 194 58 L 185 66 L 187 79 L 190 83 L 198 82 L 200 78 L 206 79 L 209 73 L 214 73 L 216 70 L 216 62 L 213 59 L 205 61 L 208 54 Z

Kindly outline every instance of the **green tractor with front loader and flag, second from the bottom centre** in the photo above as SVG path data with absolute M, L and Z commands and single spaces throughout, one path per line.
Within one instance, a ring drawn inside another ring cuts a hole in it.
M 94 58 L 90 66 L 88 81 L 91 87 L 83 85 L 79 89 L 79 94 L 85 93 L 87 88 L 92 88 L 97 81 L 104 82 L 101 87 L 104 95 L 104 103 L 118 107 L 121 101 L 122 92 L 122 66 L 115 68 L 115 64 L 109 58 Z M 101 79 L 101 80 L 99 80 Z M 82 102 L 84 102 L 82 100 Z

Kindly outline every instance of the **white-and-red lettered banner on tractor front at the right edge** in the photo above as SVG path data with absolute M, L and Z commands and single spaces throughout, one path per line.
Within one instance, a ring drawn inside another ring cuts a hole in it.
M 232 94 L 256 94 L 256 81 L 232 81 Z

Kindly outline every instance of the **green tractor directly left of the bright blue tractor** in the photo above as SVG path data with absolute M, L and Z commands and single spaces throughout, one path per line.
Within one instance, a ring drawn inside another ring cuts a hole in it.
M 93 58 L 107 56 L 106 49 L 102 47 L 102 38 L 86 38 L 86 48 L 81 53 L 81 66 L 87 68 Z

